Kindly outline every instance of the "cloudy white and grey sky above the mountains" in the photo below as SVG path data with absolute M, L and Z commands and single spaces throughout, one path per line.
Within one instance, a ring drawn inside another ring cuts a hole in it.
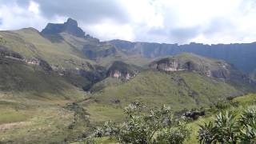
M 256 0 L 0 0 L 0 30 L 67 18 L 101 41 L 256 42 Z

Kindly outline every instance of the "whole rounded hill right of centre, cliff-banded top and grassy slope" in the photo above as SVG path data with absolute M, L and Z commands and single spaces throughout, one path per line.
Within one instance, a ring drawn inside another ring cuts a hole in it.
M 122 70 L 126 66 L 122 64 Z M 99 86 L 102 89 L 95 89 Z M 248 76 L 224 61 L 184 53 L 151 62 L 149 69 L 127 82 L 106 78 L 93 86 L 93 92 L 101 103 L 118 102 L 122 106 L 134 101 L 146 102 L 148 106 L 169 103 L 175 110 L 181 110 L 238 96 L 253 91 L 255 86 Z

